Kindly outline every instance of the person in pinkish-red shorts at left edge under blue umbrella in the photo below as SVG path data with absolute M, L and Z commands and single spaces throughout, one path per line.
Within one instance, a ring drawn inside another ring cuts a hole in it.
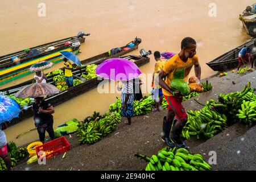
M 11 167 L 11 158 L 8 155 L 7 151 L 7 139 L 5 130 L 7 128 L 7 123 L 0 124 L 0 158 L 3 159 L 3 162 L 5 162 L 5 166 L 8 171 L 13 171 L 13 168 Z

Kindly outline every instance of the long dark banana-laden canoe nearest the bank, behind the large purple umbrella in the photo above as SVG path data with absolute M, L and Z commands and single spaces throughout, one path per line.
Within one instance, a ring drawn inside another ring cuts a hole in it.
M 149 61 L 150 61 L 150 58 L 147 56 L 145 57 L 145 56 L 129 55 L 129 56 L 123 56 L 123 57 L 125 59 L 133 61 L 135 64 L 137 64 L 138 67 L 141 67 L 142 65 L 149 63 Z M 102 63 L 102 61 L 96 62 L 96 64 L 100 64 L 100 63 Z M 81 73 L 84 73 L 85 68 L 86 67 L 84 67 L 82 70 L 77 69 L 74 72 L 75 76 L 80 76 Z M 48 81 L 48 83 L 54 84 L 52 78 L 47 81 Z M 80 84 L 80 85 L 73 86 L 72 88 L 69 88 L 68 90 L 65 90 L 64 92 L 61 92 L 59 94 L 56 94 L 55 96 L 46 98 L 46 100 L 49 101 L 53 106 L 59 105 L 65 101 L 70 100 L 71 98 L 79 96 L 80 94 L 85 93 L 93 88 L 96 88 L 101 81 L 102 80 L 100 80 L 98 78 L 94 78 L 92 80 L 82 82 L 82 84 Z M 10 90 L 6 90 L 3 93 L 7 93 L 7 91 L 9 91 L 10 94 L 15 94 L 16 92 L 18 92 L 18 90 L 17 89 L 15 90 L 15 88 L 13 88 Z M 14 118 L 13 121 L 11 121 L 11 123 L 9 125 L 10 126 L 15 125 L 16 123 L 23 121 L 23 119 L 32 117 L 33 112 L 32 112 L 31 107 L 32 107 L 32 104 L 28 105 L 28 107 L 26 107 L 26 109 L 22 109 L 22 112 L 19 114 L 19 118 Z

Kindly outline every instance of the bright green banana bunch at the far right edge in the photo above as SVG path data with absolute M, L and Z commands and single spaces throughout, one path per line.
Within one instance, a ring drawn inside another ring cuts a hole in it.
M 252 125 L 256 122 L 256 101 L 250 102 L 243 100 L 243 104 L 241 105 L 241 109 L 238 109 L 239 114 L 236 116 L 243 123 L 249 123 Z

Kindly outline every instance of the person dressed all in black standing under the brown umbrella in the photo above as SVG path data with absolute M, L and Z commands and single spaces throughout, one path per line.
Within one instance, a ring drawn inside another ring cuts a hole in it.
M 52 116 L 54 113 L 53 106 L 45 101 L 43 97 L 36 97 L 35 102 L 32 105 L 32 110 L 34 111 L 34 121 L 36 129 L 38 130 L 40 142 L 44 143 L 46 131 L 52 140 L 55 139 Z

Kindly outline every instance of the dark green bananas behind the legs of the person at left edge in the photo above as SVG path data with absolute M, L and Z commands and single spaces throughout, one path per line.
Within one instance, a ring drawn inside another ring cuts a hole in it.
M 8 151 L 8 154 L 11 158 L 11 166 L 14 167 L 20 159 L 25 158 L 28 155 L 28 151 L 26 147 L 18 148 L 16 147 L 16 144 L 14 142 L 8 143 L 10 150 Z M 2 158 L 0 158 L 0 171 L 6 171 L 7 168 L 5 166 L 5 163 L 3 162 Z

